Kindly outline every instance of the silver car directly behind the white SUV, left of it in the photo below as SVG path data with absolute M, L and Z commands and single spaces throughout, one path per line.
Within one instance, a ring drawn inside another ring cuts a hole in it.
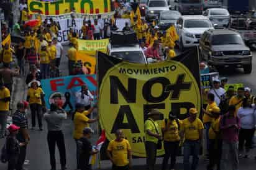
M 178 11 L 162 11 L 159 16 L 160 30 L 167 30 L 171 25 L 175 25 L 177 20 L 181 17 Z

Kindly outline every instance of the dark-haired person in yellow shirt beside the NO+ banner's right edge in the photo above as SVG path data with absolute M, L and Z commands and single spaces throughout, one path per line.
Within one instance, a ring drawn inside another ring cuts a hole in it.
M 208 105 L 206 106 L 206 110 L 203 109 L 203 123 L 204 128 L 206 129 L 206 146 L 207 151 L 209 152 L 209 128 L 211 127 L 211 122 L 213 122 L 213 114 L 211 113 L 211 109 L 217 107 L 216 102 L 214 102 L 215 96 L 214 94 L 209 93 L 207 96 Z

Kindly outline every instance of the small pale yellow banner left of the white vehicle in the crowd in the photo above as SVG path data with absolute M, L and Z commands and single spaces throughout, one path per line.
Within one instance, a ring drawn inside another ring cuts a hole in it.
M 106 53 L 108 44 L 109 44 L 109 39 L 78 40 L 78 47 L 79 47 L 78 50 L 84 51 L 88 55 L 95 56 L 97 50 L 103 53 Z

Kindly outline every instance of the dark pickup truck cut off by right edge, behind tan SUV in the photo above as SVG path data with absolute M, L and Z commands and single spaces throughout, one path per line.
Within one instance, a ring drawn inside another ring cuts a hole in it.
M 256 43 L 256 18 L 249 15 L 231 16 L 229 29 L 238 32 L 247 46 Z

